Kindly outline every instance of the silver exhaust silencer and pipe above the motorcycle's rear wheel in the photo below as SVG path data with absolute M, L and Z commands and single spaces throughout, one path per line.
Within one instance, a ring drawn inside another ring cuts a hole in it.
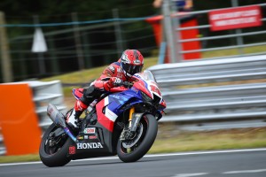
M 53 104 L 48 104 L 47 106 L 47 115 L 53 121 L 57 126 L 62 127 L 66 134 L 74 141 L 78 142 L 78 140 L 74 137 L 74 135 L 71 133 L 69 128 L 66 126 L 66 121 L 64 119 L 64 115 L 59 112 L 56 106 Z

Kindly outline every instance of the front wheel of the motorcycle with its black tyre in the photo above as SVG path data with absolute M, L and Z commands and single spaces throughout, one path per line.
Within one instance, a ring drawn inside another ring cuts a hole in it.
M 153 145 L 158 131 L 158 122 L 152 114 L 145 114 L 131 140 L 118 140 L 117 155 L 123 162 L 135 162 L 144 157 Z

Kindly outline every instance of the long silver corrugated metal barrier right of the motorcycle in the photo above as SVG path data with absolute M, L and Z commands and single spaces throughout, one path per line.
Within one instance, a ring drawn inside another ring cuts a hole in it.
M 195 60 L 148 69 L 167 103 L 168 115 L 161 121 L 201 128 L 204 122 L 215 121 L 228 121 L 223 128 L 231 122 L 240 127 L 238 121 L 242 124 L 244 120 L 249 122 L 246 127 L 266 126 L 266 55 Z

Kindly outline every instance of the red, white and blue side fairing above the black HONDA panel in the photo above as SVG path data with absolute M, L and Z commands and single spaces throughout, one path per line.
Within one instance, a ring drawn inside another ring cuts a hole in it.
M 106 127 L 110 132 L 113 132 L 113 123 L 123 112 L 121 107 L 124 104 L 127 104 L 132 97 L 134 97 L 136 101 L 130 102 L 130 104 L 142 102 L 142 99 L 137 95 L 137 92 L 131 89 L 106 96 L 96 104 L 98 123 L 103 127 Z M 139 98 L 139 101 L 137 101 L 136 98 Z

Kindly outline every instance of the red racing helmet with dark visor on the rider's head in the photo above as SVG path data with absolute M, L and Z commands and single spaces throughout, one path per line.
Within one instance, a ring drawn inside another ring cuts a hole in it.
M 128 77 L 140 73 L 144 65 L 144 58 L 138 50 L 124 50 L 121 55 L 121 68 Z

